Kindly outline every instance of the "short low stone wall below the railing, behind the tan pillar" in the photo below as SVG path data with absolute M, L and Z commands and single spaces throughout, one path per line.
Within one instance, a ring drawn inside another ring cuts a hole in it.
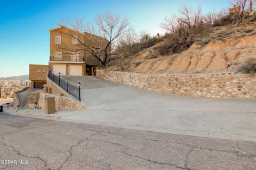
M 64 110 L 82 110 L 84 106 L 73 98 L 47 94 L 44 91 L 37 91 L 29 94 L 29 109 L 44 109 L 44 100 L 46 97 L 55 97 L 55 108 Z

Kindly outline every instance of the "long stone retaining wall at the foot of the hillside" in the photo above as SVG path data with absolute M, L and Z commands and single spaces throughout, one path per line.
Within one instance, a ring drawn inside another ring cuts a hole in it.
M 97 77 L 169 94 L 256 99 L 255 74 L 149 74 L 97 70 Z

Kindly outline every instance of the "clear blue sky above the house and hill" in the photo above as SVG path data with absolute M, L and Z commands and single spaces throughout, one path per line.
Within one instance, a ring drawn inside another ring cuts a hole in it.
M 60 18 L 77 15 L 92 21 L 97 14 L 112 12 L 127 16 L 137 32 L 155 35 L 163 18 L 178 13 L 183 4 L 201 5 L 204 13 L 229 6 L 226 0 L 0 0 L 0 77 L 28 74 L 29 64 L 47 64 L 49 29 L 57 27 Z

